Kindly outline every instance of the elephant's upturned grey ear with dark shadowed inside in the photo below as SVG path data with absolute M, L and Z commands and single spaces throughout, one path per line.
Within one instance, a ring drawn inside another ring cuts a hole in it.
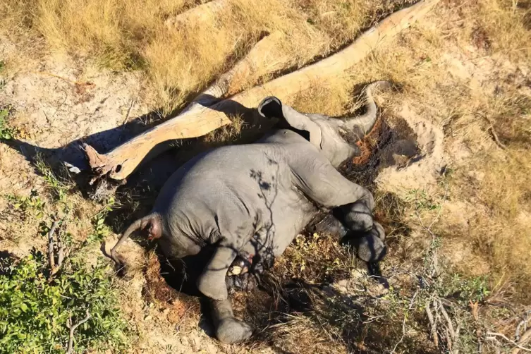
M 283 126 L 292 128 L 307 138 L 312 145 L 319 149 L 321 148 L 321 128 L 305 114 L 295 111 L 295 109 L 286 106 L 286 104 L 282 104 L 280 99 L 274 96 L 266 97 L 262 99 L 257 110 L 260 116 L 264 118 L 279 118 L 282 128 L 284 128 Z M 310 136 L 308 137 L 308 135 Z

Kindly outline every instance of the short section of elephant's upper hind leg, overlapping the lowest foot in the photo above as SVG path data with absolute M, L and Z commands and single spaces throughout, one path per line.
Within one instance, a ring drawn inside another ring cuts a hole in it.
M 202 274 L 197 279 L 197 288 L 201 293 L 214 300 L 226 300 L 226 274 L 238 253 L 233 247 L 220 244 L 214 250 Z

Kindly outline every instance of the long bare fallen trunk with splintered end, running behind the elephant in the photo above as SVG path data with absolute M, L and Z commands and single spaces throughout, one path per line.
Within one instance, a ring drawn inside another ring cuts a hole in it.
M 338 78 L 353 68 L 356 63 L 365 59 L 374 49 L 389 44 L 398 33 L 425 16 L 438 1 L 422 0 L 409 8 L 397 11 L 338 53 L 264 85 L 236 94 L 230 99 L 208 107 L 200 104 L 202 99 L 198 99 L 199 104 L 192 104 L 183 114 L 145 131 L 106 154 L 99 154 L 93 147 L 85 144 L 87 159 L 95 175 L 92 182 L 102 176 L 123 180 L 142 162 L 152 159 L 156 154 L 167 149 L 167 147 L 161 147 L 164 142 L 197 138 L 230 124 L 229 112 L 252 109 L 266 96 L 272 94 L 281 100 L 288 100 L 298 92 L 309 89 L 315 83 Z M 222 86 L 230 87 L 230 84 Z M 216 92 L 219 94 L 224 91 L 225 89 Z

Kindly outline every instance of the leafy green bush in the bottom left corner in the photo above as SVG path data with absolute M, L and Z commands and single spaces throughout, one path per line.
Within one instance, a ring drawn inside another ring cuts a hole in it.
M 74 348 L 122 350 L 126 322 L 116 309 L 110 269 L 98 262 L 85 269 L 63 264 L 51 281 L 47 260 L 33 252 L 0 267 L 0 353 L 64 353 L 68 317 L 73 324 L 90 312 L 75 330 Z

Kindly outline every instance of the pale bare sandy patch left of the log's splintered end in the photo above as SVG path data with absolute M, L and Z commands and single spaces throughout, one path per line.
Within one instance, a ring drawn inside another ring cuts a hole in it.
M 138 73 L 106 71 L 54 54 L 26 63 L 23 71 L 8 71 L 0 106 L 16 109 L 10 124 L 19 130 L 18 149 L 37 149 L 83 168 L 76 140 L 108 151 L 128 138 L 126 123 L 148 113 L 147 96 Z

